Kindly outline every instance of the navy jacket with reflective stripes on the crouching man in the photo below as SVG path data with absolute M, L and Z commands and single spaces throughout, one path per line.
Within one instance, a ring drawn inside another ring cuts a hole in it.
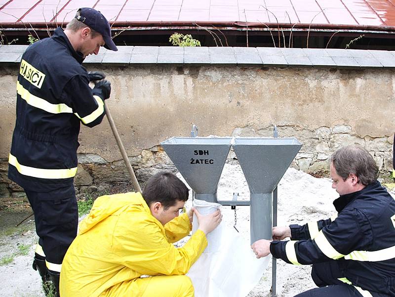
M 314 264 L 337 259 L 352 285 L 395 296 L 395 200 L 376 181 L 361 191 L 340 196 L 333 204 L 337 218 L 317 222 L 326 245 L 318 241 L 319 235 L 311 239 L 308 224 L 290 226 L 291 240 L 297 240 L 294 244 L 297 262 Z M 273 241 L 270 251 L 290 263 L 287 243 Z M 328 249 L 328 245 L 334 250 Z M 354 251 L 362 251 L 362 255 L 370 258 L 357 257 Z

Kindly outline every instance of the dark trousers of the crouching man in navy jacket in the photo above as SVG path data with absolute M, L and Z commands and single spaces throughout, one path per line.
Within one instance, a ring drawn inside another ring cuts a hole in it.
M 311 289 L 295 297 L 362 297 L 354 286 L 338 280 L 343 277 L 336 260 L 314 264 L 312 278 L 319 288 Z M 384 294 L 369 293 L 373 297 L 389 297 Z

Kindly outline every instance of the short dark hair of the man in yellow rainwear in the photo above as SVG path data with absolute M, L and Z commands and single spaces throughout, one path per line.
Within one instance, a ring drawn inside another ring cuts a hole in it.
M 187 186 L 169 171 L 158 172 L 148 179 L 143 198 L 148 206 L 160 202 L 164 209 L 176 205 L 177 201 L 188 200 Z

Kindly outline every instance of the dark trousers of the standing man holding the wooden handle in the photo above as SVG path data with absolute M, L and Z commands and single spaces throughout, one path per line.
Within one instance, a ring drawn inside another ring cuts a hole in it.
M 45 254 L 47 267 L 60 272 L 67 249 L 77 236 L 78 206 L 74 186 L 50 192 L 25 189 L 32 206 L 39 244 Z M 50 267 L 51 264 L 52 267 Z

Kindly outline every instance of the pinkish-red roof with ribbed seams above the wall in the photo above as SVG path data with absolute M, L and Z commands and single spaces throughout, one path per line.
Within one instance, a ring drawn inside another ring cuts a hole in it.
M 0 23 L 68 22 L 84 6 L 100 10 L 115 27 L 199 22 L 232 27 L 247 21 L 272 27 L 278 22 L 312 28 L 395 28 L 395 0 L 0 0 Z

